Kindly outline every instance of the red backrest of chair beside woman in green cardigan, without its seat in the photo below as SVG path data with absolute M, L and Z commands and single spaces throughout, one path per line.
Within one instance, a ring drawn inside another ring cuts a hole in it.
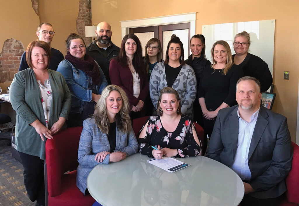
M 78 167 L 78 148 L 83 127 L 72 127 L 46 141 L 46 164 L 49 196 L 61 194 L 61 178 L 68 170 Z

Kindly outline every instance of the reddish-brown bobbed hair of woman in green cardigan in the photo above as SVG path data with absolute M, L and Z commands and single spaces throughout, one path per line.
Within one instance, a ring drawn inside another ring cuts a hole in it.
M 29 67 L 33 67 L 32 61 L 31 61 L 31 53 L 32 53 L 32 49 L 33 47 L 41 47 L 42 49 L 45 50 L 45 52 L 47 53 L 48 56 L 48 65 L 51 61 L 52 58 L 52 53 L 51 53 L 51 48 L 49 46 L 49 44 L 45 41 L 39 41 L 38 39 L 31 41 L 28 44 L 27 50 L 26 50 L 26 62 L 28 64 Z

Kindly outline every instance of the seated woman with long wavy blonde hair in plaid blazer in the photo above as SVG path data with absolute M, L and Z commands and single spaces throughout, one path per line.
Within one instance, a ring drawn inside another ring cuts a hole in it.
M 138 150 L 128 97 L 111 84 L 102 92 L 93 117 L 84 120 L 79 142 L 77 187 L 87 192 L 87 176 L 98 164 L 118 162 Z

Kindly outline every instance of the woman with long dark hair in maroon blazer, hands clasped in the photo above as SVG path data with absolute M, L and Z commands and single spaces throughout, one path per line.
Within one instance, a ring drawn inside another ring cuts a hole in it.
M 132 119 L 140 117 L 149 92 L 149 83 L 141 43 L 134 34 L 123 37 L 119 55 L 110 61 L 109 76 L 111 84 L 118 85 L 126 92 L 131 104 Z

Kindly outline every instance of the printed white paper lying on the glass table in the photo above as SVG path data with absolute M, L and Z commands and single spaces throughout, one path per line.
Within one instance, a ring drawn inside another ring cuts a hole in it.
M 147 162 L 157 167 L 160 167 L 161 169 L 166 170 L 167 172 L 175 172 L 177 170 L 183 169 L 184 167 L 190 166 L 189 164 L 186 164 L 171 157 L 163 157 L 162 159 L 150 159 L 147 160 Z

